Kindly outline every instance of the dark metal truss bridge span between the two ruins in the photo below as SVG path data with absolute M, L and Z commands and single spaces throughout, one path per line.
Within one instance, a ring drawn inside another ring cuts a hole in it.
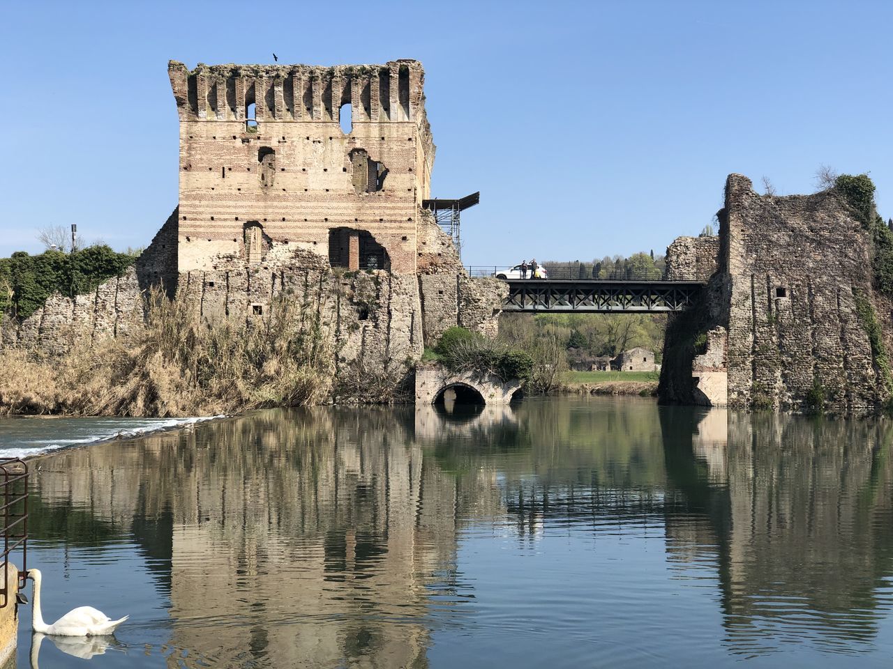
M 504 311 L 527 313 L 666 313 L 687 309 L 699 281 L 509 279 Z

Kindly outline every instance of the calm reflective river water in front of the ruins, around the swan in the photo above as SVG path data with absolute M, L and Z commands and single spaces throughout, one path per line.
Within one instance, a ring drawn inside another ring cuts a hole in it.
M 891 441 L 562 398 L 59 451 L 31 499 L 45 617 L 131 617 L 107 647 L 40 640 L 39 665 L 889 667 Z

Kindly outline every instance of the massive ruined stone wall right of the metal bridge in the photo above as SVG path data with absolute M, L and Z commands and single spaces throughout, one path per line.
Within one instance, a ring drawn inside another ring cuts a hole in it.
M 855 308 L 857 294 L 872 296 L 868 232 L 832 190 L 777 197 L 751 186 L 727 180 L 717 271 L 665 342 L 665 358 L 704 346 L 690 363 L 696 380 L 680 378 L 684 364 L 664 364 L 663 400 L 805 411 L 818 390 L 833 413 L 877 409 L 886 392 Z M 668 274 L 702 278 L 705 257 L 691 238 L 677 240 Z

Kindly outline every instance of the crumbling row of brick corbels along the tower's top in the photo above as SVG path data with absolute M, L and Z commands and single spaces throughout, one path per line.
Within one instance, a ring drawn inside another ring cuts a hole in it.
M 421 62 L 383 65 L 205 65 L 168 63 L 180 120 L 331 121 L 349 104 L 357 123 L 427 126 Z

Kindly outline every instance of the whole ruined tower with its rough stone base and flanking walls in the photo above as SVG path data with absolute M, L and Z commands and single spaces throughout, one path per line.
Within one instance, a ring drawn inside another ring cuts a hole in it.
M 435 153 L 421 63 L 171 62 L 168 74 L 178 207 L 123 277 L 0 320 L 5 346 L 127 335 L 153 286 L 246 326 L 293 296 L 321 315 L 339 363 L 372 368 L 418 359 L 449 326 L 496 335 L 505 284 L 469 277 L 421 206 Z

